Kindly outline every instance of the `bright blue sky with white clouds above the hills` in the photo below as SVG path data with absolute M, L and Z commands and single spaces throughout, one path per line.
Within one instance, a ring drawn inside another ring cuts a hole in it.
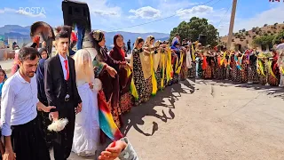
M 218 28 L 220 35 L 228 33 L 233 0 L 81 0 L 89 5 L 92 28 L 105 31 L 116 29 L 130 32 L 162 32 L 170 30 L 182 20 L 197 16 L 207 18 Z M 281 0 L 282 1 L 282 0 Z M 207 4 L 204 4 L 209 2 Z M 34 12 L 31 11 L 32 7 Z M 26 12 L 20 12 L 25 8 Z M 284 2 L 269 0 L 238 0 L 235 29 L 250 29 L 284 21 Z M 169 19 L 160 20 L 172 16 Z M 0 27 L 4 25 L 29 26 L 43 20 L 58 26 L 63 24 L 59 0 L 1 0 Z M 133 25 L 151 22 L 135 28 Z

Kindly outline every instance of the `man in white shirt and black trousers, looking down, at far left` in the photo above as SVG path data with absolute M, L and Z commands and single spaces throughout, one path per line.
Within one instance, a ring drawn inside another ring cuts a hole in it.
M 36 108 L 49 112 L 37 99 L 36 67 L 39 52 L 23 47 L 19 70 L 4 84 L 1 101 L 1 124 L 4 135 L 4 160 L 50 160 L 36 119 Z

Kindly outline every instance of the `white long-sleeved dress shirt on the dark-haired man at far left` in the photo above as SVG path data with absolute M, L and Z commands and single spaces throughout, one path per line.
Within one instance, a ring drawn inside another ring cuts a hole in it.
M 11 125 L 27 124 L 36 118 L 36 75 L 28 83 L 19 70 L 7 79 L 2 90 L 1 125 L 2 134 L 12 134 Z

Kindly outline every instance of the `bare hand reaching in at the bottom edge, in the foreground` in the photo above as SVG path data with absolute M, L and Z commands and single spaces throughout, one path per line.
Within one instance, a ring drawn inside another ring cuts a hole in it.
M 120 156 L 122 150 L 127 147 L 127 144 L 118 140 L 116 142 L 111 143 L 105 151 L 102 151 L 99 160 L 114 160 L 118 156 Z

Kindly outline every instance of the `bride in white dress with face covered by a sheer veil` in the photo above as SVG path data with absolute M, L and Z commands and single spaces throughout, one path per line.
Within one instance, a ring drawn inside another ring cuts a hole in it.
M 99 147 L 99 108 L 91 54 L 82 49 L 77 51 L 73 58 L 77 88 L 83 107 L 81 113 L 75 117 L 72 151 L 79 156 L 94 156 Z

